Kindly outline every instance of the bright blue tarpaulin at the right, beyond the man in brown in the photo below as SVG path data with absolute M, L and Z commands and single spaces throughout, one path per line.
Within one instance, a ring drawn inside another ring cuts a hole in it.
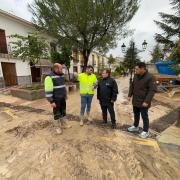
M 172 70 L 171 66 L 176 64 L 174 61 L 170 60 L 170 61 L 162 61 L 159 60 L 156 63 L 156 67 L 158 70 L 159 74 L 166 74 L 166 75 L 176 75 L 176 72 Z

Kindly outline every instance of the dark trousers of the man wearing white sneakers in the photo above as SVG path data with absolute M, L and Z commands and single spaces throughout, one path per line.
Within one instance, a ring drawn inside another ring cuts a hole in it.
M 134 112 L 134 126 L 139 126 L 140 115 L 143 119 L 143 131 L 148 132 L 149 130 L 149 117 L 148 117 L 148 108 L 140 108 L 133 106 Z

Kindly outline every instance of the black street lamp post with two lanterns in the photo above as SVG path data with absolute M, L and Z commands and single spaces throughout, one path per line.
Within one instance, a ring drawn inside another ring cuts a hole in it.
M 147 48 L 147 42 L 146 40 L 144 40 L 144 42 L 142 43 L 142 50 L 139 50 L 139 52 L 144 52 Z M 135 43 L 132 42 L 130 45 L 130 49 L 131 49 L 131 65 L 130 65 L 130 85 L 132 84 L 132 75 L 133 75 L 133 69 L 134 69 L 134 49 L 135 49 Z M 126 52 L 126 45 L 123 43 L 121 46 L 121 50 L 123 53 Z

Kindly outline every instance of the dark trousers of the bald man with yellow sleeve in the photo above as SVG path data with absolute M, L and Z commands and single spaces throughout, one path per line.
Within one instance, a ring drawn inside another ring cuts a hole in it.
M 54 120 L 58 120 L 66 116 L 66 100 L 65 98 L 55 100 L 56 107 L 53 108 Z

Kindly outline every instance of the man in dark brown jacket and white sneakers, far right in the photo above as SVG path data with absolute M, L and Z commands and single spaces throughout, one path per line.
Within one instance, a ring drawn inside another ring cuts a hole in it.
M 134 125 L 128 128 L 130 132 L 139 131 L 140 114 L 143 119 L 143 132 L 140 134 L 141 138 L 149 136 L 149 117 L 148 109 L 151 106 L 151 101 L 156 92 L 155 78 L 147 72 L 146 64 L 143 62 L 135 66 L 135 75 L 133 82 L 129 89 L 128 99 L 133 104 Z

